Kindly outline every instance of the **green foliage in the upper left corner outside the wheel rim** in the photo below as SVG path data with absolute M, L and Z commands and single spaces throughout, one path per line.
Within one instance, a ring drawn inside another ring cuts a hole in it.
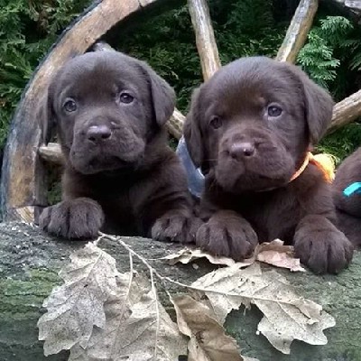
M 0 0 L 0 146 L 32 71 L 89 0 Z

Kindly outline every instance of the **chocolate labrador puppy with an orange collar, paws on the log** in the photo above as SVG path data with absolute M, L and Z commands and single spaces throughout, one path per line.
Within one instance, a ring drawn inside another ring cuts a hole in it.
M 264 57 L 236 60 L 195 91 L 184 137 L 206 175 L 197 245 L 240 260 L 281 238 L 316 273 L 347 266 L 353 246 L 334 226 L 329 184 L 306 161 L 332 106 L 300 69 Z

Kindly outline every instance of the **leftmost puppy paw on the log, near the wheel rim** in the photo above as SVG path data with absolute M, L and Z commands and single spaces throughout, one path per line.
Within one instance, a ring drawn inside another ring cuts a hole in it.
M 104 213 L 92 199 L 64 200 L 45 208 L 39 226 L 52 236 L 67 239 L 94 238 L 104 222 Z

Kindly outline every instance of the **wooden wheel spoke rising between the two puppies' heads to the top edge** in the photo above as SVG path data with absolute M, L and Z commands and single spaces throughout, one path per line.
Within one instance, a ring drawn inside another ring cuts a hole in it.
M 190 18 L 196 33 L 197 49 L 203 79 L 209 79 L 219 68 L 218 47 L 206 0 L 188 0 Z

